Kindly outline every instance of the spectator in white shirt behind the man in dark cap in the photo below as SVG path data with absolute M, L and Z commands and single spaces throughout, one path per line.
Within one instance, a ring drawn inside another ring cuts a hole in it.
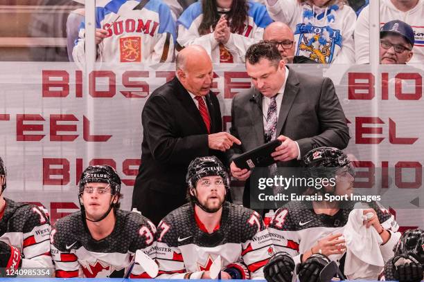
M 424 1 L 381 0 L 380 23 L 401 19 L 412 27 L 415 34 L 414 56 L 409 64 L 424 62 Z M 355 56 L 357 64 L 369 64 L 369 6 L 362 10 L 355 27 Z

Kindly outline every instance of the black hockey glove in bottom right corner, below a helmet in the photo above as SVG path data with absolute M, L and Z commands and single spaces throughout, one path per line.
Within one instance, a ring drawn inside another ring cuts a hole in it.
M 423 265 L 414 256 L 394 256 L 385 263 L 386 281 L 418 282 L 423 280 Z

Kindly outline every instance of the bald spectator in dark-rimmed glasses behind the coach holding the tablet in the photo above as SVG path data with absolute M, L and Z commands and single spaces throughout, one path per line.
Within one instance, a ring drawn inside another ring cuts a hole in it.
M 279 49 L 286 64 L 317 63 L 305 56 L 294 56 L 294 34 L 289 26 L 281 21 L 276 21 L 267 26 L 265 32 L 263 32 L 263 39 L 270 41 Z

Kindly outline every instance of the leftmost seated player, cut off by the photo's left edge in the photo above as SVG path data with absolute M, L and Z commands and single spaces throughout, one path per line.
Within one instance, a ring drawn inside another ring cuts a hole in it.
M 53 267 L 50 223 L 43 209 L 4 198 L 6 167 L 0 158 L 0 267 Z

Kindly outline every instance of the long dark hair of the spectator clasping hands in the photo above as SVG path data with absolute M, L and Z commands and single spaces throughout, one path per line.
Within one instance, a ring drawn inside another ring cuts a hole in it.
M 233 0 L 231 3 L 231 10 L 226 15 L 229 23 L 229 28 L 232 33 L 241 33 L 245 28 L 245 20 L 247 19 L 247 6 L 246 0 Z M 220 19 L 216 0 L 203 0 L 202 1 L 203 19 L 199 26 L 199 34 L 207 35 L 211 33 L 211 26 L 215 30 L 215 26 Z

